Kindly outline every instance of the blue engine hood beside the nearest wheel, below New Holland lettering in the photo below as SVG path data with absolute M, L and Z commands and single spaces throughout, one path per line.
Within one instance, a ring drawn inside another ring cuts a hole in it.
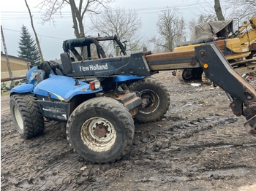
M 75 79 L 65 76 L 56 76 L 50 74 L 48 79 L 39 82 L 34 88 L 36 95 L 48 96 L 51 98 L 59 99 L 61 101 L 69 101 L 75 95 L 91 94 L 102 91 L 102 88 L 98 90 L 89 90 L 89 84 L 78 80 L 80 85 L 75 85 Z

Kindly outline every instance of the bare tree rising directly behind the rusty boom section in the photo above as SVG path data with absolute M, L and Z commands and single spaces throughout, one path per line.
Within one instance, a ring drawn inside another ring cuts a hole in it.
M 178 42 L 186 41 L 185 23 L 183 17 L 178 17 L 178 10 L 165 9 L 159 14 L 157 31 L 159 37 L 154 37 L 152 42 L 163 47 L 164 51 L 172 51 Z

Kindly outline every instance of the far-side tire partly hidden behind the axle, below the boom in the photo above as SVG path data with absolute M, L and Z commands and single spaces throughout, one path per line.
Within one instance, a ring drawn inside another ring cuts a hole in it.
M 170 95 L 167 88 L 159 80 L 152 77 L 140 79 L 129 85 L 129 89 L 140 93 L 143 104 L 135 120 L 138 122 L 154 122 L 160 120 L 170 106 Z

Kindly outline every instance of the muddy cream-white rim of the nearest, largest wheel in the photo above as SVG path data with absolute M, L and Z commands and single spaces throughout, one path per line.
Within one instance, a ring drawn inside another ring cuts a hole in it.
M 111 122 L 102 117 L 92 117 L 83 123 L 80 138 L 89 149 L 105 152 L 116 141 L 116 130 Z

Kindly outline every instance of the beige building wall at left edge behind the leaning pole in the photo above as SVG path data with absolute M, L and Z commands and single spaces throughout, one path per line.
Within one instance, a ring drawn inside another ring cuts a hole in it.
M 25 76 L 28 71 L 28 61 L 9 55 L 10 68 L 13 77 Z M 7 61 L 4 54 L 1 53 L 1 78 L 9 77 Z

